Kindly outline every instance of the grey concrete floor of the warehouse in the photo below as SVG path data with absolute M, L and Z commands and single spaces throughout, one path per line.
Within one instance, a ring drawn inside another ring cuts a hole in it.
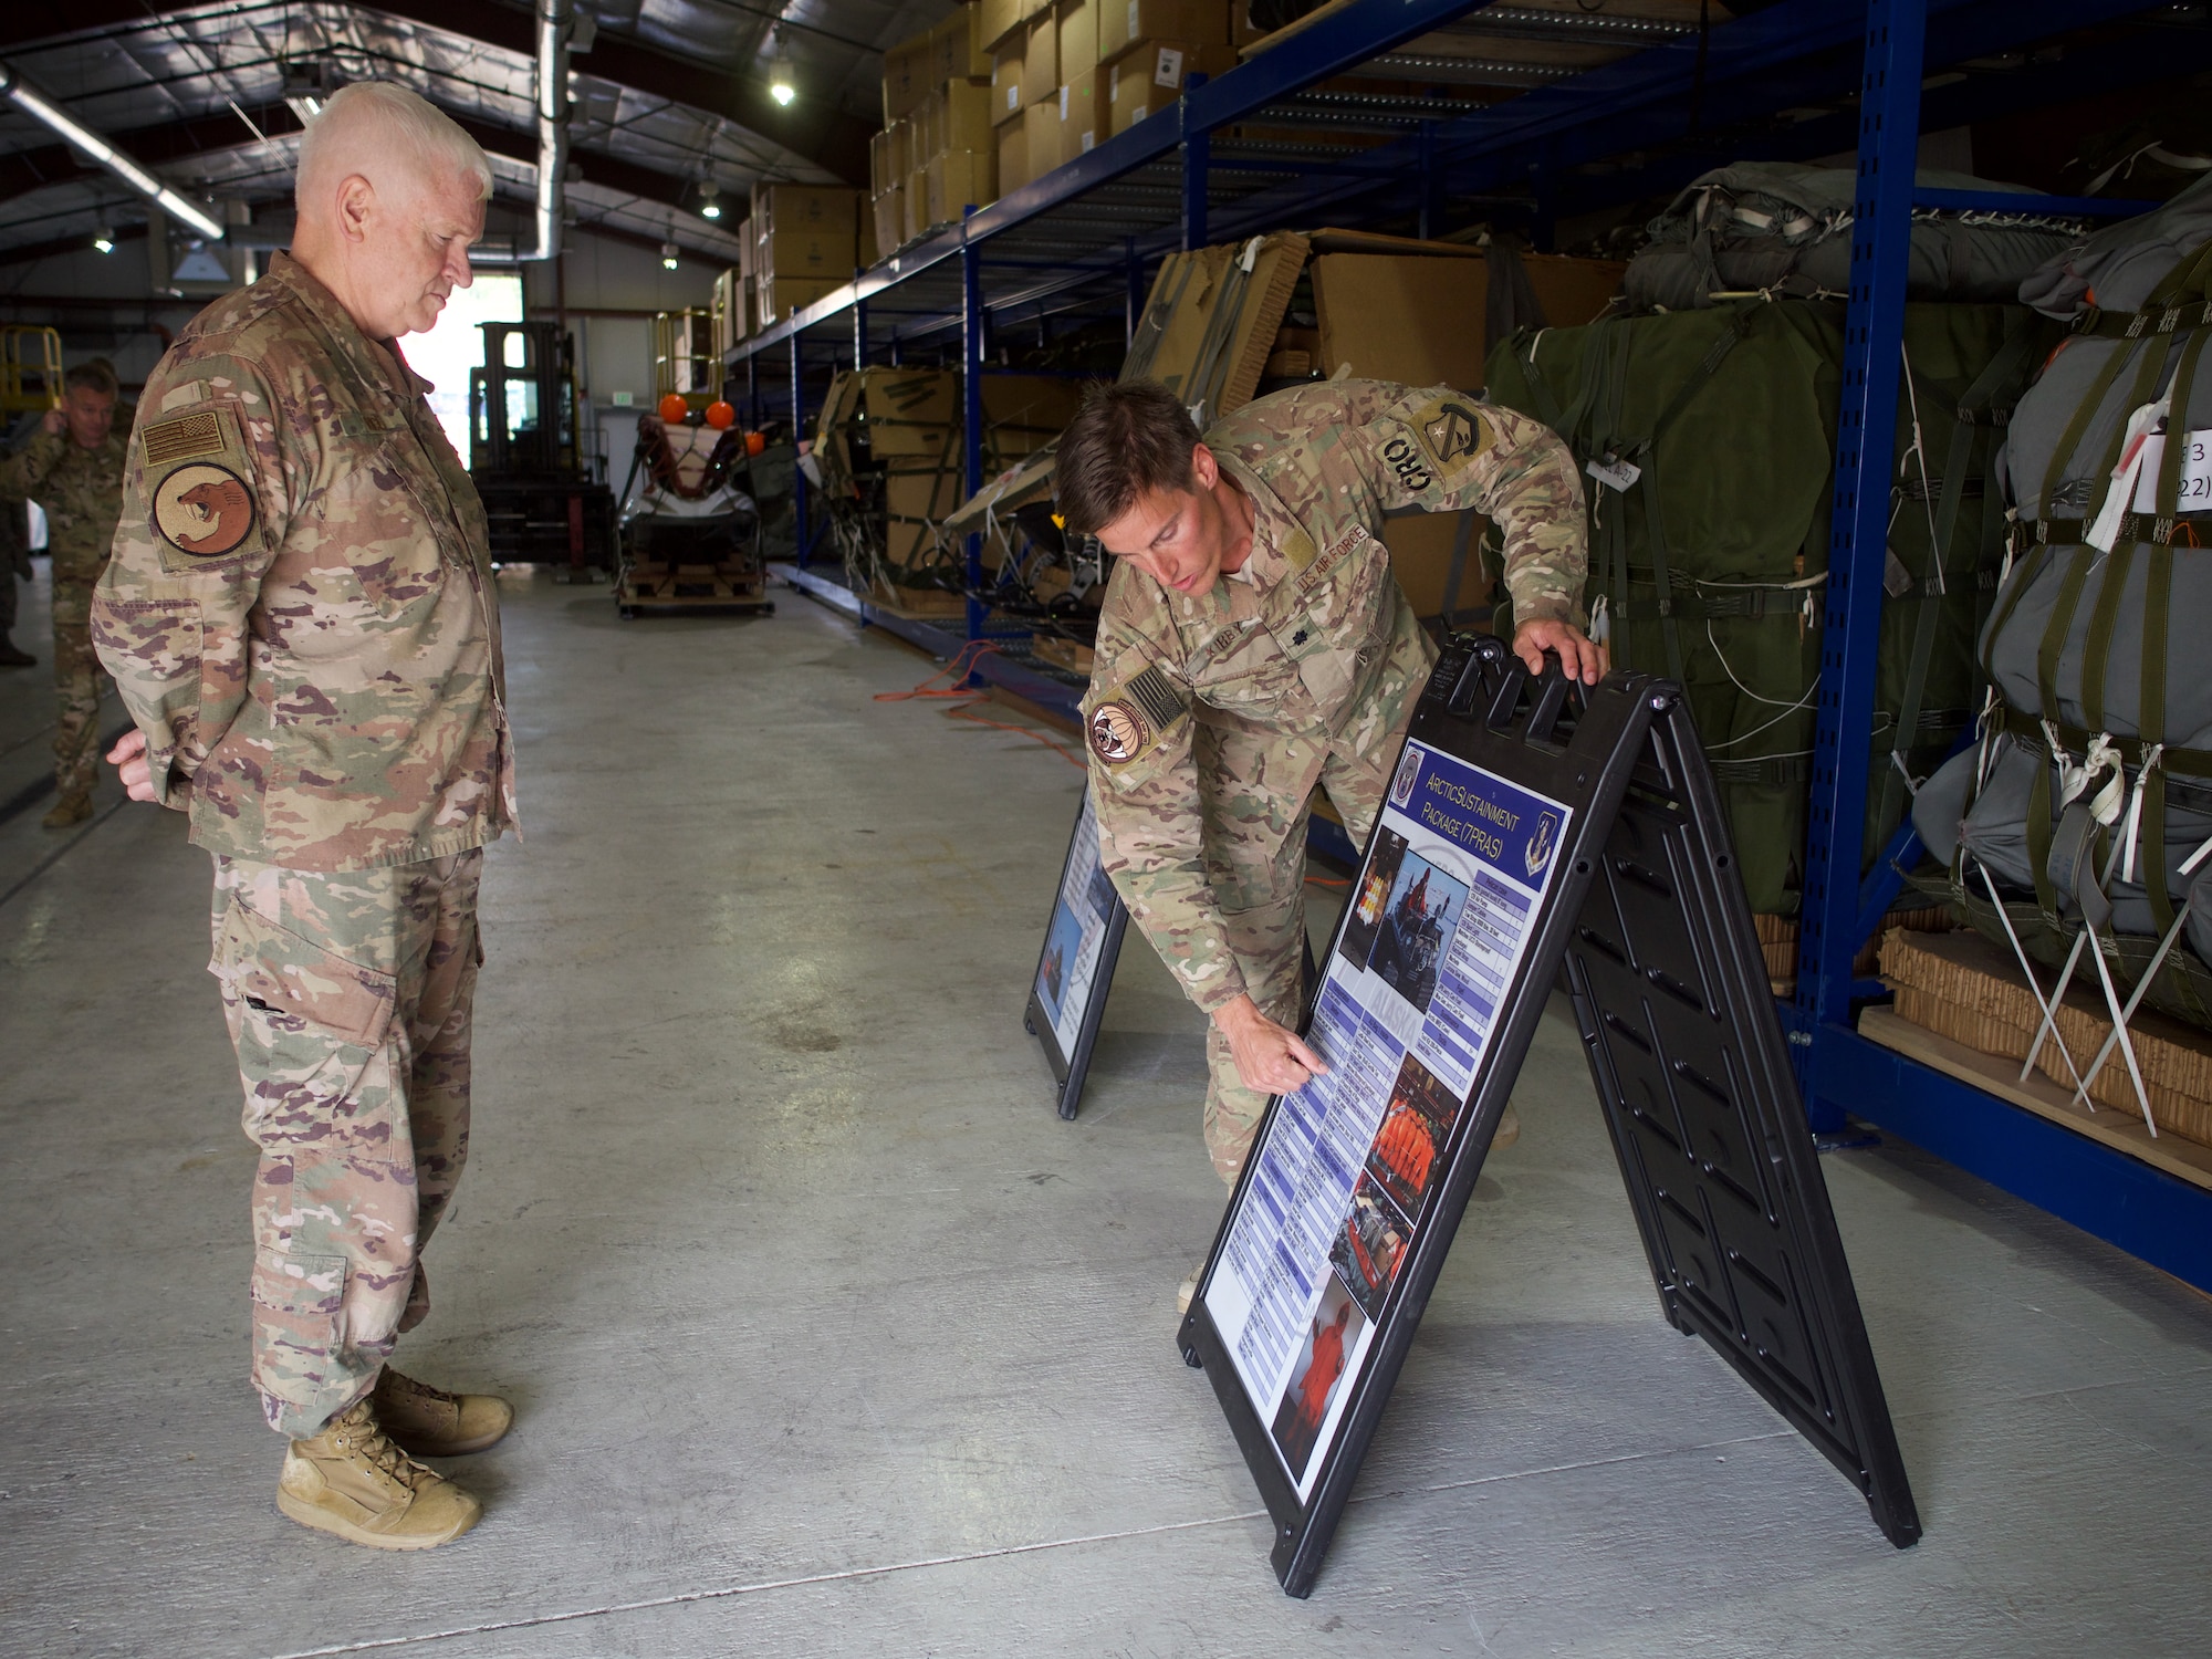
M 1077 772 L 872 701 L 929 664 L 796 595 L 507 599 L 529 841 L 400 1349 L 515 1400 L 456 1467 L 489 1515 L 372 1555 L 276 1513 L 206 858 L 150 807 L 18 812 L 0 891 L 66 852 L 0 900 L 0 1652 L 2212 1652 L 2212 1301 L 1907 1146 L 1825 1159 L 1927 1522 L 1896 1553 L 1659 1321 L 1559 1022 L 1285 1599 L 1172 1343 L 1221 1208 L 1199 1020 L 1133 940 L 1075 1124 L 1022 1035 Z M 0 799 L 44 719 L 0 675 Z

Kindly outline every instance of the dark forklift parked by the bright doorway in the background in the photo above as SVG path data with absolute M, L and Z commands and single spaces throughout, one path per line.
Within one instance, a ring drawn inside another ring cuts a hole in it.
M 469 473 L 491 524 L 493 564 L 549 564 L 555 582 L 606 582 L 615 495 L 577 449 L 575 369 L 555 323 L 478 323 L 469 369 Z

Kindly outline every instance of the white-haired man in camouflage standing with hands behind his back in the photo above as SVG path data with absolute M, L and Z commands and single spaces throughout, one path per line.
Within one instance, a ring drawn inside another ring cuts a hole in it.
M 137 721 L 111 759 L 215 854 L 276 1502 L 380 1548 L 480 1515 L 405 1453 L 511 1422 L 385 1367 L 467 1159 L 482 847 L 515 821 L 484 511 L 394 345 L 467 285 L 484 195 L 482 153 L 411 93 L 325 106 L 294 257 L 146 385 L 93 606 Z

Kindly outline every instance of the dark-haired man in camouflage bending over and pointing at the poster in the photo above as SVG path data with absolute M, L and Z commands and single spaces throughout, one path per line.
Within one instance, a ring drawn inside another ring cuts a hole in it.
M 1267 1095 L 1321 1068 L 1287 1029 L 1312 790 L 1367 838 L 1436 659 L 1383 515 L 1493 518 L 1515 650 L 1540 666 L 1548 646 L 1595 681 L 1582 487 L 1535 420 L 1383 380 L 1279 392 L 1203 440 L 1166 387 L 1108 387 L 1062 438 L 1057 478 L 1071 526 L 1121 555 L 1084 699 L 1099 852 L 1212 1015 L 1206 1146 L 1234 1181 Z

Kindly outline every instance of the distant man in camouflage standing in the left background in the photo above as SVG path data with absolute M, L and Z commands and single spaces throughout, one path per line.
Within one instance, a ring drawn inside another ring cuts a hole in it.
M 60 801 L 44 816 L 49 830 L 93 816 L 102 681 L 91 604 L 124 504 L 126 434 L 115 431 L 115 392 L 106 358 L 80 363 L 62 376 L 62 407 L 46 409 L 31 442 L 0 462 L 0 498 L 35 500 L 44 509 L 53 555 L 53 785 Z M 13 586 L 9 575 L 11 608 Z

